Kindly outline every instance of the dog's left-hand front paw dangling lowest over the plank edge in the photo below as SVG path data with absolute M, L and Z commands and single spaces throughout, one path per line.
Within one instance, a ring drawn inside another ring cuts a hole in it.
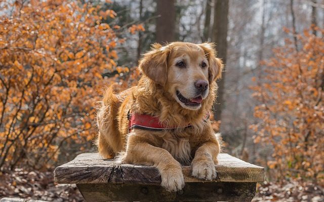
M 180 168 L 166 168 L 161 172 L 161 186 L 167 191 L 179 191 L 184 187 L 184 178 Z

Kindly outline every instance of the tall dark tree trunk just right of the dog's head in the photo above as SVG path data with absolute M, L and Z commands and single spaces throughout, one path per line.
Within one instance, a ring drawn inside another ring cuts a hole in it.
M 213 41 L 216 42 L 216 49 L 218 58 L 223 60 L 226 65 L 227 55 L 227 26 L 228 26 L 228 1 L 229 0 L 215 0 L 214 7 L 214 25 L 213 25 Z M 218 97 L 217 102 L 214 104 L 214 118 L 221 120 L 222 110 L 224 109 L 224 84 L 225 72 L 223 72 L 222 79 L 217 82 L 218 84 Z

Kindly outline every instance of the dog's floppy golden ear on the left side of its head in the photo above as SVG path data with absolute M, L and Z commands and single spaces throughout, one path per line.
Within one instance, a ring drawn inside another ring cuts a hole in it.
M 139 63 L 142 72 L 162 86 L 167 82 L 169 53 L 170 47 L 168 45 L 162 46 L 159 43 L 154 43 L 151 50 L 144 54 Z

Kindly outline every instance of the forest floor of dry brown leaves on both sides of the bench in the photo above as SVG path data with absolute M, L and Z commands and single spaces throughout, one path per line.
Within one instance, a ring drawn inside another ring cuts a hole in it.
M 55 184 L 53 172 L 15 169 L 0 172 L 0 198 L 20 197 L 47 201 L 85 201 L 75 185 Z M 324 202 L 324 187 L 311 182 L 290 181 L 258 184 L 252 201 Z

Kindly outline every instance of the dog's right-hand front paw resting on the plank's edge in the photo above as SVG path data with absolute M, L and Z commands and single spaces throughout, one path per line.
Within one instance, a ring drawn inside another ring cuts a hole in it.
M 204 180 L 215 180 L 216 169 L 215 164 L 212 160 L 193 160 L 192 164 L 192 176 L 204 179 Z

